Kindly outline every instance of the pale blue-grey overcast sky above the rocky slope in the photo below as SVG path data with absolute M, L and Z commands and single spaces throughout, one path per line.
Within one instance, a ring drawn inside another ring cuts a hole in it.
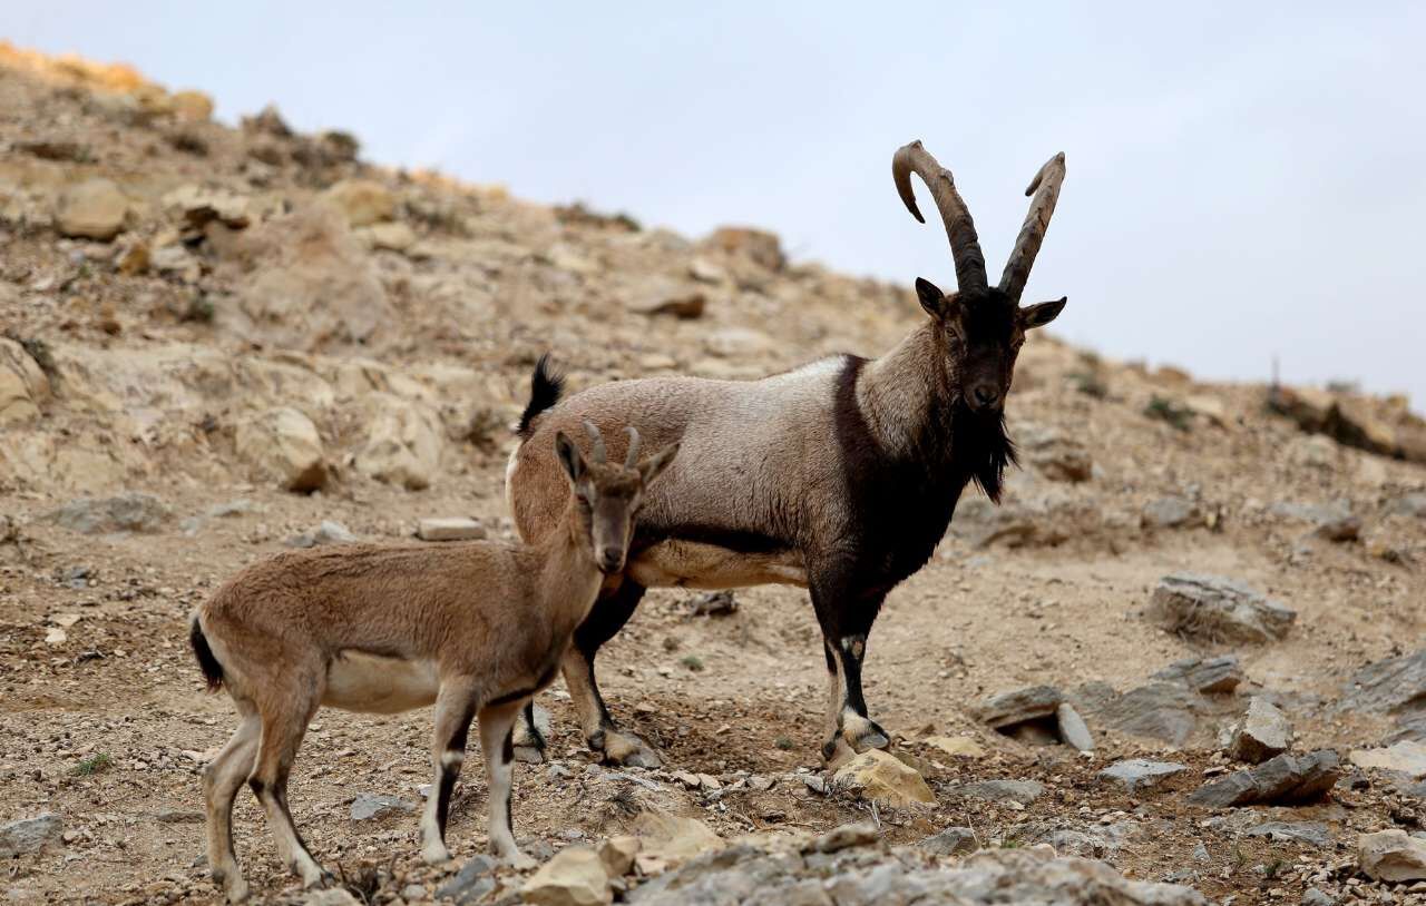
M 375 162 L 761 225 L 904 283 L 954 271 L 896 197 L 897 145 L 954 171 L 992 281 L 1064 151 L 1025 298 L 1070 296 L 1061 336 L 1206 378 L 1276 356 L 1426 407 L 1426 4 L 9 6 L 14 43 L 133 63 L 228 121 L 272 101 Z

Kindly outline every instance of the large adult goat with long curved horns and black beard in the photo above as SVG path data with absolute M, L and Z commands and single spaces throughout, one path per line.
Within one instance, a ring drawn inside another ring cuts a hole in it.
M 975 481 L 1000 500 L 1014 463 L 1002 405 L 1025 332 L 1065 299 L 1020 306 L 1065 175 L 1057 154 L 1035 175 L 1030 215 L 998 286 L 951 174 L 921 142 L 896 152 L 901 201 L 924 222 L 911 174 L 930 187 L 945 222 L 957 292 L 915 281 L 930 318 L 880 359 L 834 356 L 763 380 L 655 378 L 607 383 L 559 402 L 542 362 L 520 419 L 506 493 L 523 538 L 559 520 L 562 487 L 550 432 L 588 419 L 605 430 L 637 422 L 657 443 L 680 442 L 677 464 L 650 494 L 622 583 L 606 583 L 565 655 L 565 681 L 589 745 L 610 761 L 656 765 L 620 732 L 595 684 L 595 654 L 633 614 L 645 588 L 806 585 L 821 624 L 830 675 L 823 756 L 838 761 L 888 744 L 867 717 L 861 662 L 887 593 L 931 557 L 955 501 Z M 516 734 L 538 746 L 529 727 Z M 523 752 L 522 752 L 523 754 Z

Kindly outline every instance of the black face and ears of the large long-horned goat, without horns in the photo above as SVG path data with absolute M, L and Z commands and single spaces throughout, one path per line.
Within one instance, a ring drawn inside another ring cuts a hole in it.
M 1065 306 L 1065 299 L 1057 299 L 1020 308 L 995 288 L 945 295 L 925 279 L 915 281 L 915 295 L 943 328 L 961 399 L 984 413 L 998 413 L 1005 405 L 1025 332 L 1050 323 Z

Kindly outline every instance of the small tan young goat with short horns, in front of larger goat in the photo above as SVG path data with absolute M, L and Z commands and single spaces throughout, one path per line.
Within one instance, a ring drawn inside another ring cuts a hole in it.
M 563 514 L 535 546 L 371 544 L 288 553 L 241 571 L 193 617 L 208 688 L 228 689 L 242 724 L 204 771 L 208 863 L 231 900 L 247 896 L 232 852 L 232 801 L 244 781 L 267 811 L 278 853 L 311 886 L 322 869 L 292 825 L 287 778 L 321 705 L 395 714 L 435 702 L 435 782 L 421 818 L 426 862 L 451 858 L 446 809 L 481 719 L 491 849 L 528 863 L 511 825 L 511 729 L 555 677 L 606 576 L 625 568 L 645 487 L 677 452 L 606 462 L 593 425 L 586 460 L 563 432 Z

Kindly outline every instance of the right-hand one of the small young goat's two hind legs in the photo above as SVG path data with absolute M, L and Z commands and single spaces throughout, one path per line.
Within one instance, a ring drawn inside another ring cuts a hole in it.
M 314 887 L 328 875 L 312 858 L 307 843 L 302 842 L 302 835 L 297 832 L 297 825 L 292 823 L 292 812 L 287 803 L 287 778 L 292 771 L 297 749 L 302 745 L 307 725 L 317 714 L 321 688 L 318 684 L 299 684 L 285 694 L 278 689 L 271 692 L 268 698 L 271 704 L 260 704 L 262 739 L 258 744 L 257 764 L 248 776 L 248 786 L 267 812 L 278 856 L 287 862 L 294 875 L 302 878 L 305 886 Z

